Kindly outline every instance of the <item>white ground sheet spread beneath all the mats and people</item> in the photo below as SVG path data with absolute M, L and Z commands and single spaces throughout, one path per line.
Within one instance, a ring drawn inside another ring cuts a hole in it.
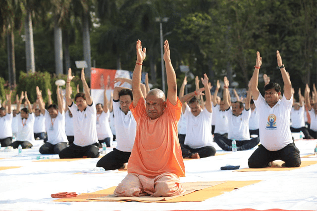
M 38 156 L 42 140 L 32 149 L 24 149 L 18 157 L 17 149 L 0 152 L 0 167 L 21 166 L 18 169 L 0 170 L 0 210 L 44 210 L 44 211 L 168 211 L 244 209 L 257 210 L 317 210 L 317 165 L 287 171 L 237 172 L 220 170 L 226 164 L 248 168 L 248 158 L 257 148 L 228 153 L 215 143 L 217 154 L 203 159 L 186 160 L 186 177 L 181 182 L 263 180 L 203 202 L 140 203 L 140 202 L 53 202 L 51 194 L 95 192 L 116 186 L 127 174 L 126 171 L 107 171 L 100 174 L 75 174 L 90 172 L 96 168 L 96 159 L 71 162 L 33 162 Z M 313 154 L 317 140 L 298 140 L 296 146 L 301 156 Z M 115 142 L 114 142 L 115 144 Z M 107 149 L 110 151 L 111 149 Z M 44 157 L 43 155 L 41 157 Z M 45 156 L 58 158 L 58 155 Z M 302 158 L 302 161 L 317 161 L 317 157 Z

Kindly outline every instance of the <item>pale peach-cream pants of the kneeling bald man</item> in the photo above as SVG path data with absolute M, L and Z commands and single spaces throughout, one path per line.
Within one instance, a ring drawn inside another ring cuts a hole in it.
M 163 173 L 149 178 L 136 173 L 128 173 L 116 187 L 113 194 L 119 197 L 154 196 L 169 197 L 184 194 L 179 177 L 174 173 Z

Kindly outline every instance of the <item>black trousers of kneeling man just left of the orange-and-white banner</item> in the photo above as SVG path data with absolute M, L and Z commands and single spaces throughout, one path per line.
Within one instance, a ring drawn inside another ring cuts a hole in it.
M 88 145 L 85 147 L 77 146 L 75 144 L 69 145 L 59 152 L 59 158 L 98 158 L 99 145 L 98 143 Z

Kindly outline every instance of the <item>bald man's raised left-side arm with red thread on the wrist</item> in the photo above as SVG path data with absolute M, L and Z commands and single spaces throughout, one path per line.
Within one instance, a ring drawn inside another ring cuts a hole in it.
M 140 84 L 141 84 L 142 65 L 145 59 L 146 48 L 142 49 L 142 42 L 140 40 L 137 41 L 136 51 L 137 51 L 137 61 L 134 67 L 133 75 L 132 75 L 132 93 L 133 93 L 134 107 L 137 106 L 139 99 L 143 97 Z

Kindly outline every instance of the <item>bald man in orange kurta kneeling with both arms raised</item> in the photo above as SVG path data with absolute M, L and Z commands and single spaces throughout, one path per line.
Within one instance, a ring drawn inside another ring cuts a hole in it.
M 175 71 L 170 62 L 168 42 L 164 43 L 167 100 L 159 89 L 152 89 L 144 100 L 141 89 L 142 63 L 146 49 L 137 41 L 137 62 L 132 77 L 133 102 L 130 110 L 137 122 L 128 174 L 114 190 L 120 197 L 182 195 L 179 177 L 185 176 L 177 124 L 182 104 L 177 97 Z

